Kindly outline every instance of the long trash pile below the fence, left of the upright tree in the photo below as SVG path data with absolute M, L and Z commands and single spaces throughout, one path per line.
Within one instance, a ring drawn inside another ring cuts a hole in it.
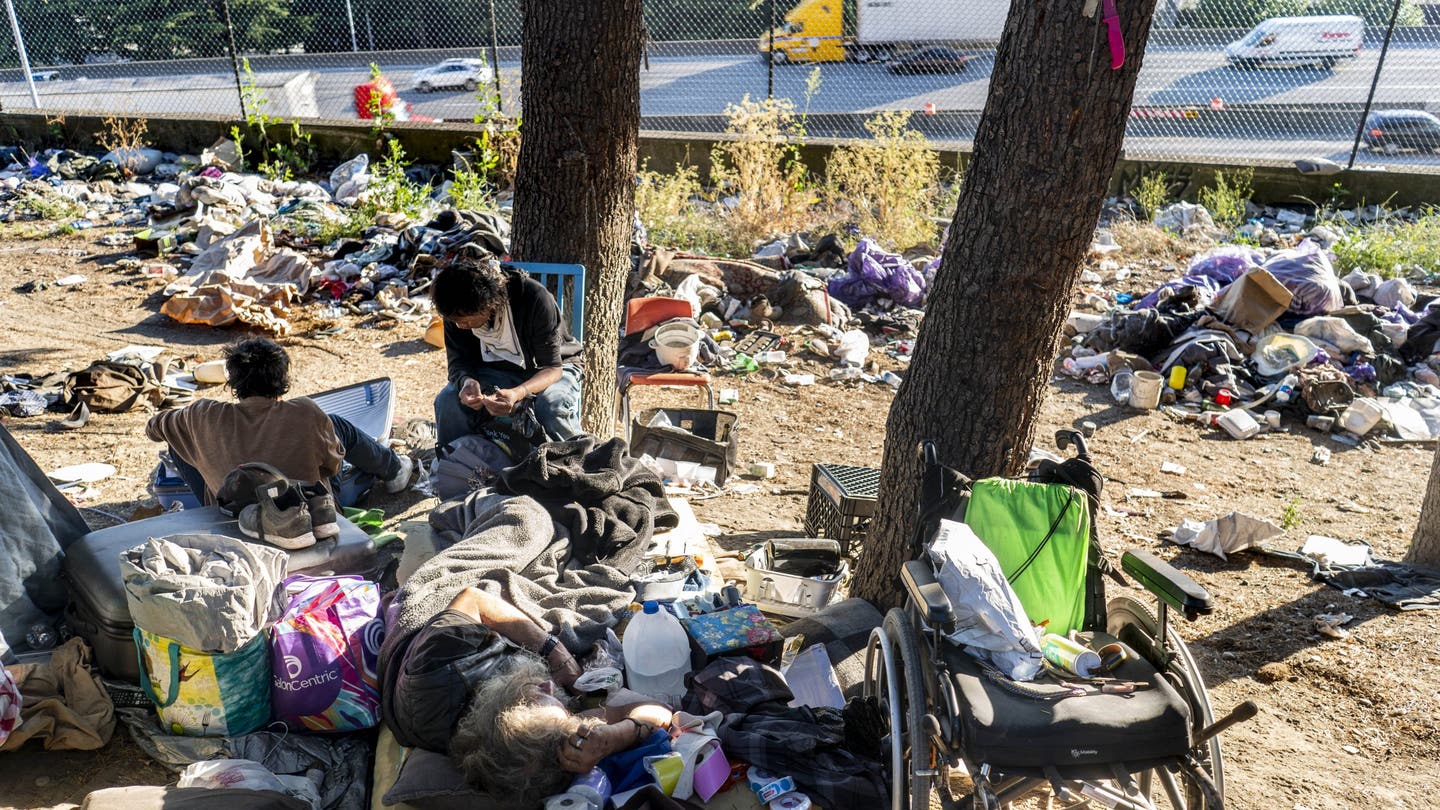
M 320 244 L 327 229 L 374 208 L 382 183 L 364 154 L 320 182 L 242 173 L 226 138 L 199 156 L 138 148 L 99 160 L 68 150 L 9 157 L 0 219 L 75 213 L 65 226 L 138 228 L 132 242 L 111 235 L 104 244 L 131 248 L 120 267 L 168 281 L 161 311 L 180 323 L 287 334 L 291 307 L 307 300 L 331 304 L 321 317 L 418 321 L 429 317 L 423 293 L 438 254 L 472 242 L 495 255 L 508 249 L 504 218 L 446 209 L 446 184 L 425 187 L 433 216 L 423 222 L 376 210 L 363 238 Z

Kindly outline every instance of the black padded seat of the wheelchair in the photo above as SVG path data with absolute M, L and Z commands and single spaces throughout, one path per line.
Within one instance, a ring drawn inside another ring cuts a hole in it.
M 1081 633 L 1092 649 L 1119 643 L 1106 633 Z M 1115 670 L 1119 680 L 1143 683 L 1129 695 L 1087 693 L 1054 699 L 1018 695 L 1012 682 L 998 683 L 979 662 L 955 644 L 942 653 L 955 680 L 960 712 L 959 738 L 966 758 L 1007 773 L 1054 767 L 1084 778 L 1086 765 L 1179 757 L 1191 747 L 1191 712 L 1185 699 L 1130 647 Z M 1061 692 L 1054 679 L 1034 683 Z M 1038 775 L 1038 773 L 1037 773 Z

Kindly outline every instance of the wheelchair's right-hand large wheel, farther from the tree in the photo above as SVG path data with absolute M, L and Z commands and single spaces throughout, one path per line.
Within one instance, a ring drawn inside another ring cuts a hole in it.
M 1201 677 L 1189 649 L 1175 634 L 1175 630 L 1168 628 L 1166 633 L 1165 646 L 1174 653 L 1172 660 L 1166 664 L 1166 662 L 1152 657 L 1159 636 L 1159 620 L 1145 604 L 1130 597 L 1116 597 L 1106 605 L 1106 613 L 1109 633 L 1151 659 L 1151 663 L 1189 703 L 1194 731 L 1200 732 L 1212 724 L 1215 718 L 1210 708 L 1210 693 L 1205 692 L 1205 680 Z M 1176 768 L 1155 768 L 1140 774 L 1139 781 L 1140 790 L 1146 796 L 1164 797 L 1175 810 L 1223 810 L 1225 783 L 1220 736 L 1210 738 L 1204 749 L 1197 751 Z M 1159 783 L 1158 788 L 1155 783 Z

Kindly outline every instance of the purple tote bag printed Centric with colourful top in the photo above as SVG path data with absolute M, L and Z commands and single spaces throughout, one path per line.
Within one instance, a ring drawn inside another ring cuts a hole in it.
M 271 628 L 271 706 L 294 731 L 356 731 L 380 719 L 380 591 L 360 577 L 291 577 Z

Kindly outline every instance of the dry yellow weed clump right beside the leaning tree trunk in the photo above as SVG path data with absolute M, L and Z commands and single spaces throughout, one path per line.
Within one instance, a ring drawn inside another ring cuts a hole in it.
M 871 140 L 838 147 L 825 164 L 831 205 L 848 203 L 861 233 L 897 249 L 935 242 L 932 215 L 940 197 L 940 156 L 910 128 L 910 115 L 870 118 Z

